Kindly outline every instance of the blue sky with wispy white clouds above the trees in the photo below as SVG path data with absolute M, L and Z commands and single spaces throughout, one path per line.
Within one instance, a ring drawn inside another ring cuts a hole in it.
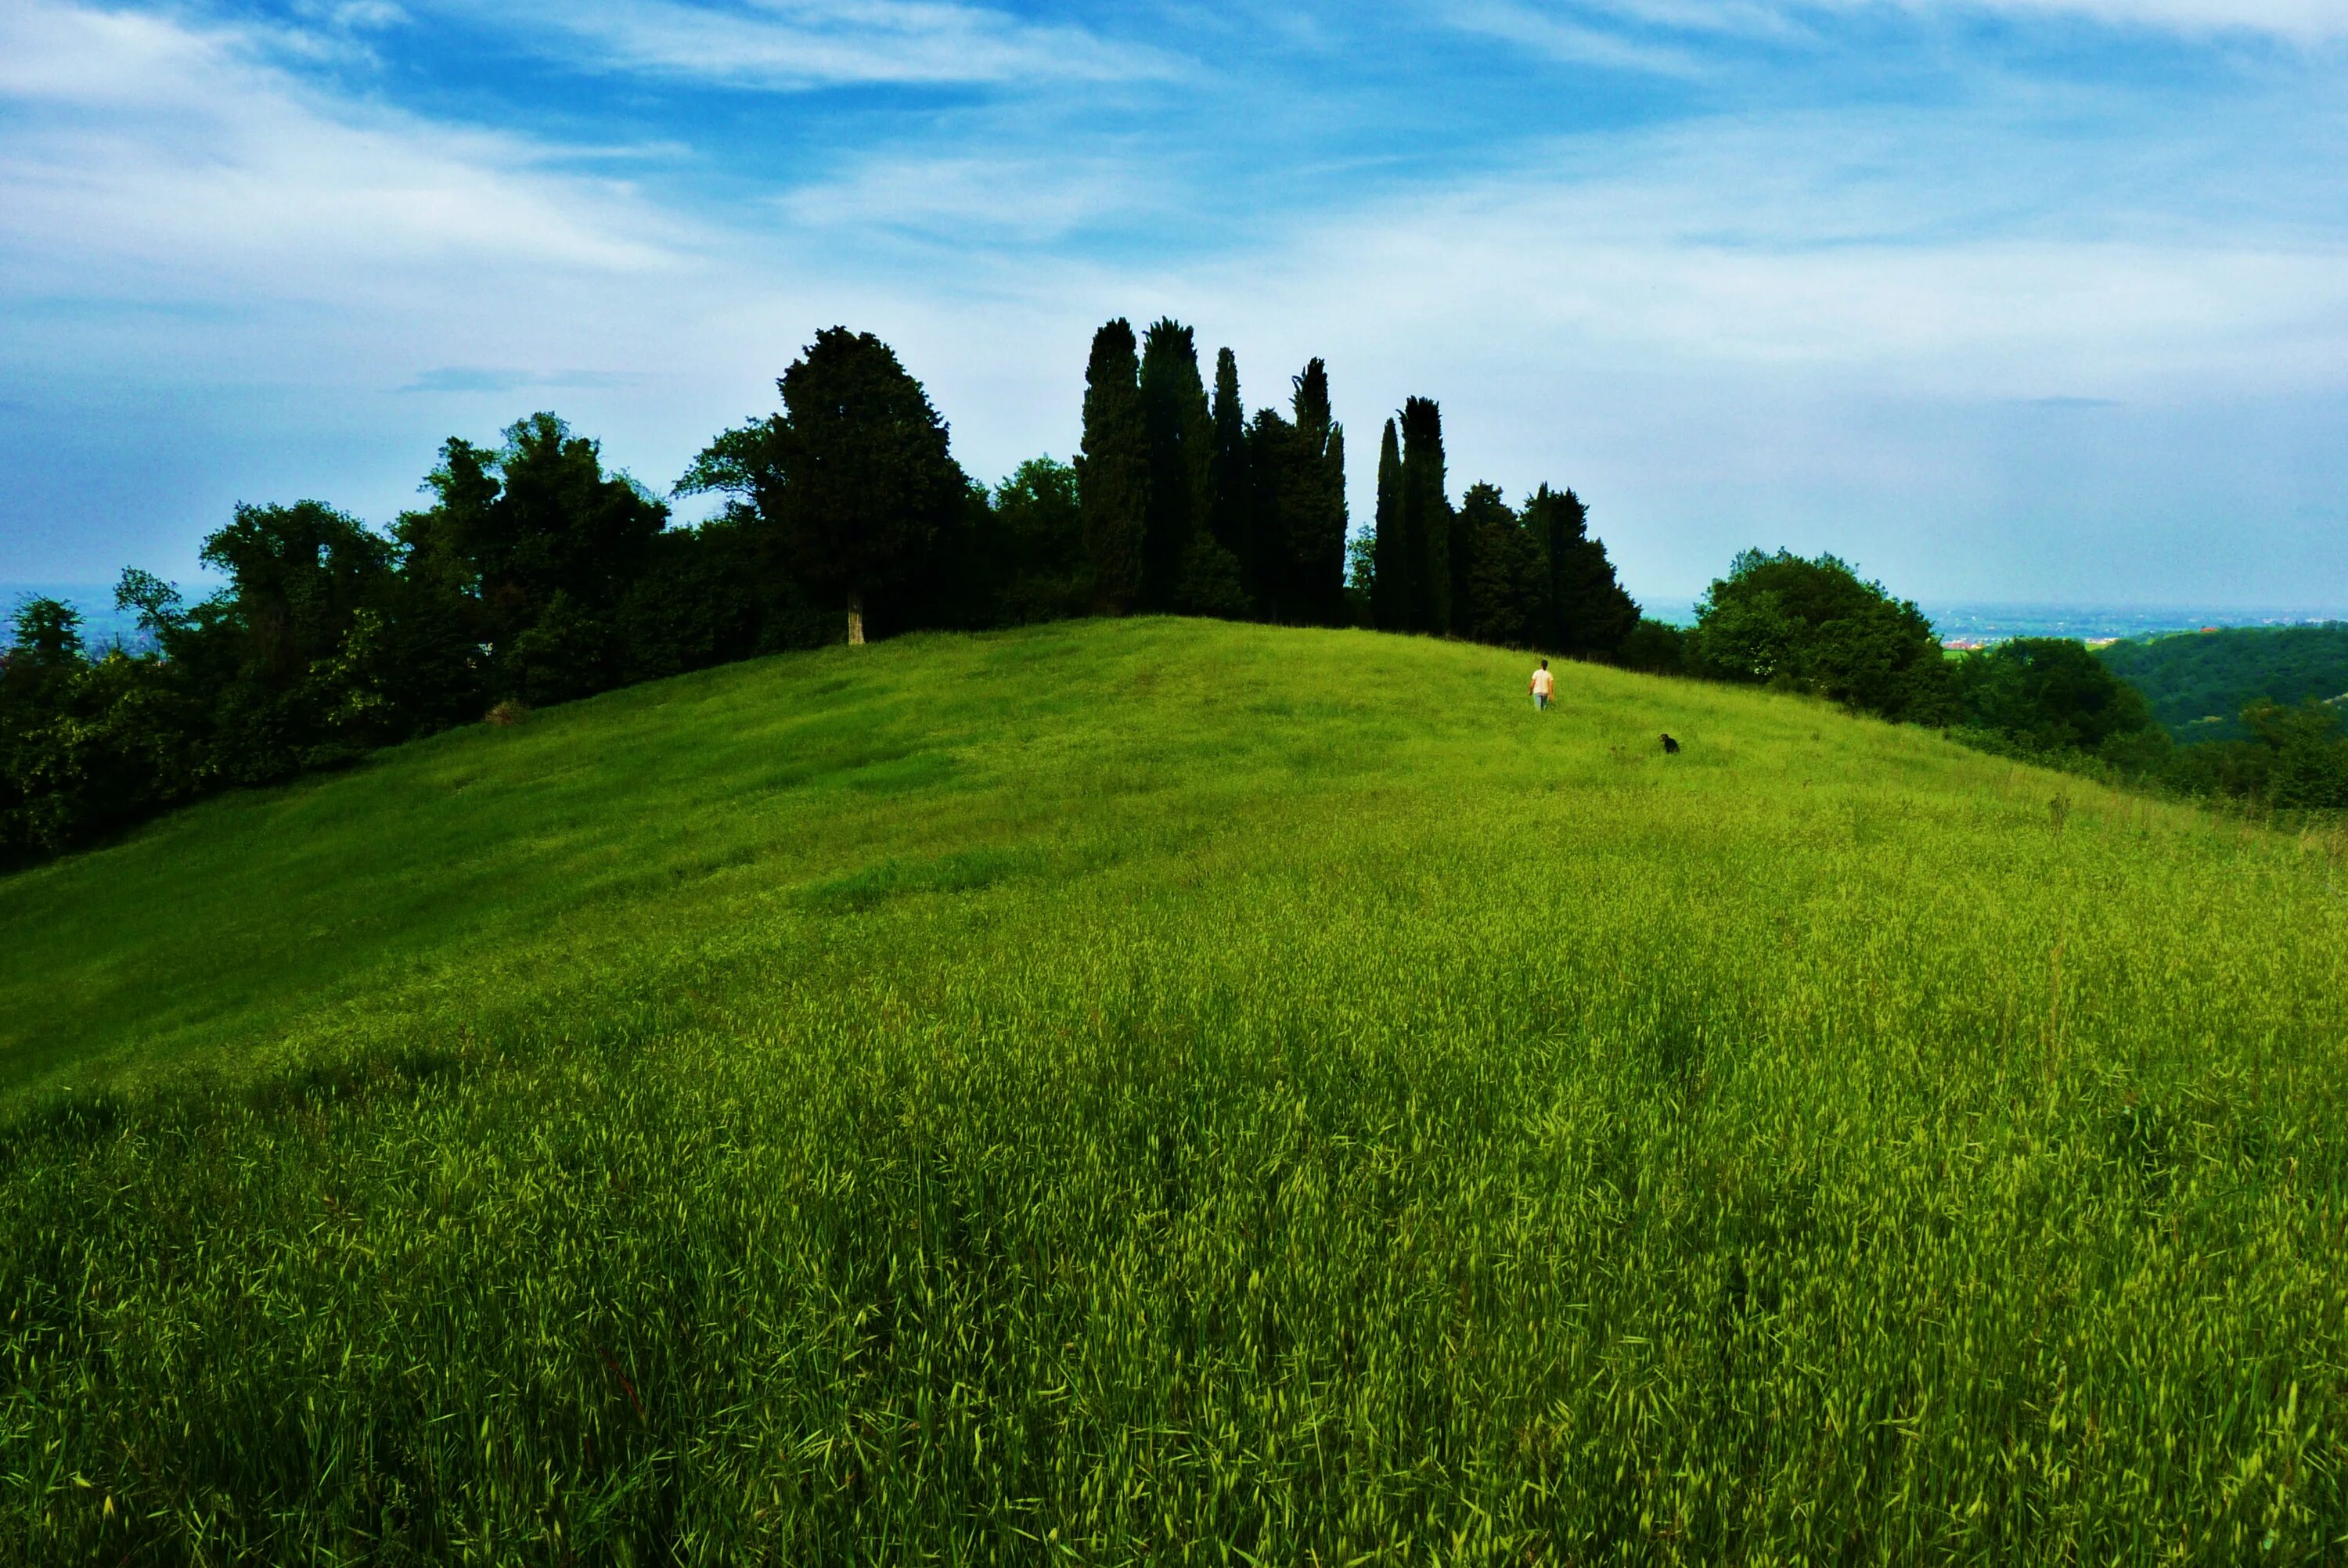
M 829 324 L 993 481 L 1115 315 L 1324 357 L 1355 526 L 1435 397 L 1651 603 L 2348 610 L 2348 5 L 0 7 L 0 582 L 538 408 L 667 491 Z

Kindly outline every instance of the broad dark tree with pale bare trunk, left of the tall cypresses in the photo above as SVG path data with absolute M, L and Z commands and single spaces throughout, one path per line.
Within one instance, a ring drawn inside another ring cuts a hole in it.
M 718 437 L 679 493 L 747 488 L 791 575 L 845 603 L 862 646 L 866 603 L 963 523 L 970 481 L 927 392 L 871 333 L 826 326 L 775 387 L 782 413 Z

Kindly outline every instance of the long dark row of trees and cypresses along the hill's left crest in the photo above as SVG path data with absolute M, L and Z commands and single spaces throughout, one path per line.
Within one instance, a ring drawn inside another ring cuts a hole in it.
M 1442 415 L 1388 420 L 1376 528 L 1348 545 L 1345 432 L 1310 359 L 1287 408 L 1214 392 L 1172 319 L 1094 333 L 1073 465 L 972 481 L 946 420 L 871 333 L 826 329 L 780 411 L 721 432 L 672 498 L 554 413 L 451 437 L 387 530 L 317 500 L 239 505 L 188 601 L 131 568 L 139 646 L 89 650 L 54 599 L 0 650 L 0 864 L 197 796 L 345 765 L 484 716 L 845 636 L 1186 613 L 1615 655 L 1639 610 L 1571 491 L 1453 507 Z

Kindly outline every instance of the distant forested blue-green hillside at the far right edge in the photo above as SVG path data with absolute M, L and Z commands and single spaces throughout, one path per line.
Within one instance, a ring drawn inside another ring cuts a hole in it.
M 2348 695 L 2348 622 L 2186 631 L 2113 643 L 2101 657 L 2177 739 L 2240 739 L 2240 714 L 2259 697 Z

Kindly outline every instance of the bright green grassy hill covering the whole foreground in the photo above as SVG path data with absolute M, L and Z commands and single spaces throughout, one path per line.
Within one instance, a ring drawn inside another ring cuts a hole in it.
M 913 636 L 0 880 L 0 1559 L 2348 1556 L 2348 840 L 1524 671 Z

